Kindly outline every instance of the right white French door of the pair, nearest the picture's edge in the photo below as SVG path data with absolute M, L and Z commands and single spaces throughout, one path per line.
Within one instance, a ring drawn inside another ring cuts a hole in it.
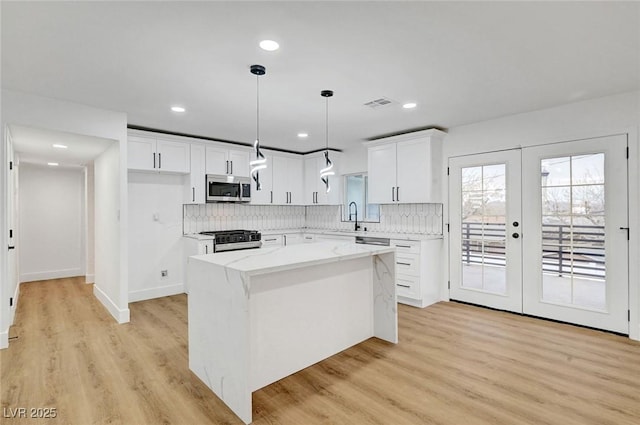
M 628 333 L 627 137 L 523 149 L 524 313 Z

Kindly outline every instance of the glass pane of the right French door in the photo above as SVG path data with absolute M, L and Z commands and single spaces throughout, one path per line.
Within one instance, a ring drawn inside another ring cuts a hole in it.
M 605 310 L 604 154 L 540 165 L 542 300 Z

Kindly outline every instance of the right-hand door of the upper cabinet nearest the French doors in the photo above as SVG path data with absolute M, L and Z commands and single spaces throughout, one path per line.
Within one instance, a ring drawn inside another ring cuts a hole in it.
M 403 204 L 432 202 L 429 200 L 432 180 L 429 140 L 398 143 L 396 163 L 396 201 Z

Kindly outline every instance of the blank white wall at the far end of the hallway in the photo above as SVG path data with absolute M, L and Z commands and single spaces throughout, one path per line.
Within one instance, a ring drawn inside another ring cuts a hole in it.
M 84 170 L 18 167 L 20 282 L 84 274 Z

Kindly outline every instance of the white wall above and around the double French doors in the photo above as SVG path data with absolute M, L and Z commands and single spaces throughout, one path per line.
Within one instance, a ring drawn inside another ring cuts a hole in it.
M 610 134 L 629 134 L 630 337 L 640 339 L 640 91 L 566 104 L 449 129 L 444 158 Z M 444 182 L 447 179 L 443 179 Z M 444 193 L 448 193 L 445 189 Z M 621 206 L 624 208 L 624 206 Z M 445 211 L 445 220 L 448 221 Z M 443 293 L 446 284 L 443 282 Z

